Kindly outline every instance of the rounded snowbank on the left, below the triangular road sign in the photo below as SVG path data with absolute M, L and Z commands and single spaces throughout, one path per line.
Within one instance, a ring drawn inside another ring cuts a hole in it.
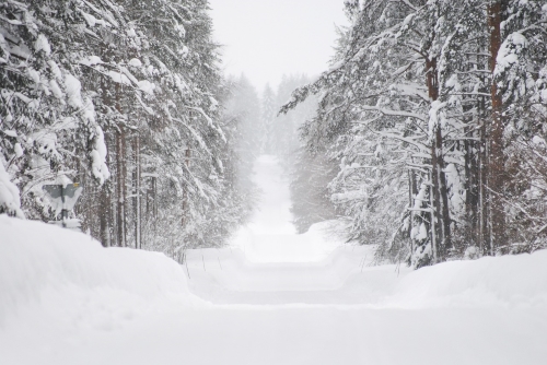
M 190 303 L 185 272 L 162 254 L 105 249 L 81 233 L 0 215 L 0 327 L 30 308 L 109 326 L 162 303 Z

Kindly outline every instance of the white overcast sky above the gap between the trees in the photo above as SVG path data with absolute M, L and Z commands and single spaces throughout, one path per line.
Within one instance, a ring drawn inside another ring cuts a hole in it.
M 344 0 L 209 0 L 214 39 L 226 74 L 242 72 L 261 91 L 283 74 L 316 75 L 328 68 Z

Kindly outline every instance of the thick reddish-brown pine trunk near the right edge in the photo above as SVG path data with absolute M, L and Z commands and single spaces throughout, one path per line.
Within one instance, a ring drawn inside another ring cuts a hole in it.
M 501 46 L 501 16 L 502 2 L 504 0 L 491 0 L 488 5 L 488 27 L 490 30 L 490 71 L 492 72 L 491 83 L 491 106 L 490 118 L 490 149 L 488 158 L 488 190 L 490 193 L 490 229 L 491 249 L 493 255 L 496 246 L 504 246 L 505 237 L 505 212 L 503 209 L 503 196 L 505 187 L 504 156 L 503 156 L 503 101 L 496 81 L 494 69 L 498 51 Z

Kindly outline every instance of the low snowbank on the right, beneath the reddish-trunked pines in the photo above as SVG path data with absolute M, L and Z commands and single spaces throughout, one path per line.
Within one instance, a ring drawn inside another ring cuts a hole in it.
M 547 250 L 452 261 L 408 273 L 387 306 L 547 307 Z

